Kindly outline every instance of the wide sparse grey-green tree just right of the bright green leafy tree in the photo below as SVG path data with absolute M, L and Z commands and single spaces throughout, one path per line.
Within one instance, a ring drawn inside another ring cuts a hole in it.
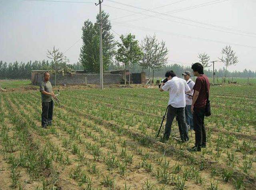
M 150 69 L 158 69 L 167 63 L 168 49 L 165 47 L 165 42 L 158 42 L 156 35 L 146 36 L 142 41 L 143 58 L 140 66 L 144 69 L 148 68 L 149 78 Z M 154 76 L 153 76 L 154 77 Z

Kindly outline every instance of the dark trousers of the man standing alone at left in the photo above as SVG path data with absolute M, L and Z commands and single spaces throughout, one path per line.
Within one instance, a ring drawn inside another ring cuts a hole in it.
M 52 123 L 53 107 L 53 101 L 42 103 L 42 126 L 46 126 Z

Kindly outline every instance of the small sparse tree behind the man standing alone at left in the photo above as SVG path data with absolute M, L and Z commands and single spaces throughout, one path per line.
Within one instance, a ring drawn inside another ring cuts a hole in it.
M 66 60 L 68 61 L 68 59 L 66 59 L 66 57 L 64 57 L 63 53 L 60 52 L 59 49 L 55 49 L 55 46 L 53 47 L 52 51 L 47 49 L 47 57 L 49 59 L 52 59 L 53 62 L 54 62 L 54 75 L 55 75 L 54 86 L 56 86 L 56 73 L 57 73 L 57 70 L 60 69 L 59 68 L 60 65 L 62 63 L 65 63 Z

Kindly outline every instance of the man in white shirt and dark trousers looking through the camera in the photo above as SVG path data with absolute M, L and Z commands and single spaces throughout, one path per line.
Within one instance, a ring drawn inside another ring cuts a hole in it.
M 165 132 L 162 138 L 162 141 L 166 141 L 170 137 L 172 121 L 175 116 L 177 116 L 178 121 L 180 122 L 180 138 L 182 141 L 188 141 L 188 126 L 186 124 L 185 118 L 185 92 L 190 93 L 190 87 L 184 79 L 176 77 L 176 74 L 173 71 L 168 71 L 165 74 L 165 77 L 168 79 L 166 83 L 162 83 L 159 90 L 169 91 L 169 102 L 168 102 L 168 111 L 167 119 L 165 124 Z

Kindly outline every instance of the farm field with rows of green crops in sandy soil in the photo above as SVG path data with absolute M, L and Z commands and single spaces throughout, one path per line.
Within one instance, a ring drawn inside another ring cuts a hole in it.
M 188 151 L 194 131 L 174 139 L 176 121 L 156 138 L 168 103 L 157 88 L 63 89 L 48 129 L 39 91 L 0 92 L 0 189 L 255 189 L 255 92 L 211 86 L 201 152 Z

